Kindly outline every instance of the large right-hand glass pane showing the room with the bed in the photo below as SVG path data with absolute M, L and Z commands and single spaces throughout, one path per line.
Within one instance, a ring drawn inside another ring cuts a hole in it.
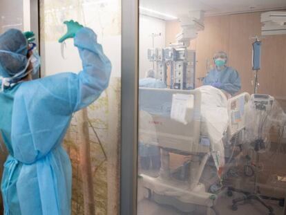
M 285 12 L 206 2 L 140 1 L 137 214 L 283 214 Z

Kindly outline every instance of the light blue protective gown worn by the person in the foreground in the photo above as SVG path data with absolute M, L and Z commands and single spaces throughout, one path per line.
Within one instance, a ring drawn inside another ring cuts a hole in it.
M 93 30 L 75 35 L 83 71 L 22 82 L 0 93 L 0 129 L 10 155 L 1 190 L 5 214 L 70 214 L 71 165 L 61 142 L 72 114 L 108 86 L 111 62 Z

